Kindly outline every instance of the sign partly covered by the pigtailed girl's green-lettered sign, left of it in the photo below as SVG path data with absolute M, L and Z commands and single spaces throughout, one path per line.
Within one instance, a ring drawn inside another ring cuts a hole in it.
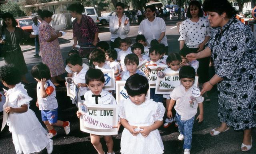
M 158 71 L 157 68 L 158 67 L 161 67 L 162 70 L 161 71 L 164 71 L 164 69 L 167 67 L 167 65 L 158 65 L 158 66 L 149 66 L 149 67 L 146 67 L 145 69 L 148 70 L 148 68 L 150 69 L 150 71 L 148 71 L 149 73 L 147 74 L 146 71 L 144 70 L 144 74 L 146 75 L 146 77 L 148 78 L 148 83 L 149 83 L 149 87 L 150 88 L 156 88 L 156 79 L 157 79 L 157 74 Z

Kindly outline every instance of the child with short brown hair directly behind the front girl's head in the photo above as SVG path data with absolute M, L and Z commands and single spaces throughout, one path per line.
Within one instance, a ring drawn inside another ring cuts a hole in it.
M 124 63 L 125 63 L 126 69 L 128 71 L 124 72 L 122 81 L 126 81 L 130 76 L 132 76 L 136 73 L 139 75 L 145 76 L 144 73 L 142 73 L 141 71 L 139 71 L 137 69 L 137 67 L 139 65 L 139 58 L 134 53 L 130 53 L 130 54 L 126 55 L 124 58 Z

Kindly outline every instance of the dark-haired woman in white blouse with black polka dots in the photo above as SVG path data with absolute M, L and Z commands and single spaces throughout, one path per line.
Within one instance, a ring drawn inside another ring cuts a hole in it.
M 193 52 L 199 52 L 204 49 L 205 44 L 209 41 L 211 28 L 209 21 L 204 17 L 204 12 L 197 0 L 192 0 L 188 6 L 188 19 L 180 25 L 180 49 L 183 47 Z M 199 83 L 208 81 L 208 68 L 210 57 L 198 59 L 199 67 L 197 74 Z

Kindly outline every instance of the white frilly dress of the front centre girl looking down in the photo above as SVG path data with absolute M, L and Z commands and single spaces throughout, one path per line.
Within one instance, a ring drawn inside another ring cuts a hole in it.
M 165 108 L 162 103 L 156 103 L 152 99 L 141 105 L 135 105 L 126 100 L 118 105 L 118 115 L 124 118 L 132 126 L 150 126 L 155 121 L 162 121 Z M 162 154 L 164 145 L 158 129 L 153 130 L 147 137 L 142 134 L 133 136 L 128 129 L 124 128 L 121 138 L 122 154 Z

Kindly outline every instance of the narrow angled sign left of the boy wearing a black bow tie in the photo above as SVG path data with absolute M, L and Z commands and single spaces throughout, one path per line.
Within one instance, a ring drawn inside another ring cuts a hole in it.
M 78 104 L 78 97 L 80 93 L 80 88 L 77 86 L 77 83 L 74 82 L 72 77 L 66 77 L 66 83 L 67 83 L 67 95 L 73 99 L 73 101 L 76 103 L 76 106 Z

